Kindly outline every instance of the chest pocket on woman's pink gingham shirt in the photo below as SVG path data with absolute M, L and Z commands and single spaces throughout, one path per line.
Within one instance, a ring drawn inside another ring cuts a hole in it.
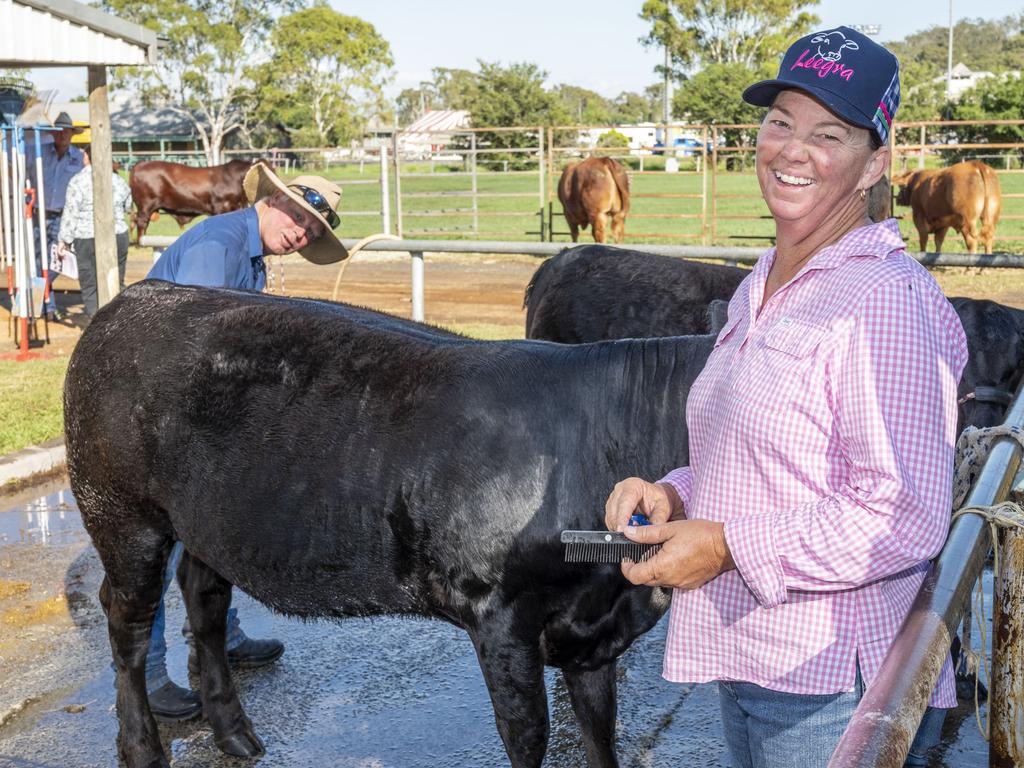
M 815 369 L 827 333 L 820 326 L 785 318 L 752 339 L 739 370 L 733 372 L 733 396 L 759 409 L 781 412 L 824 397 Z

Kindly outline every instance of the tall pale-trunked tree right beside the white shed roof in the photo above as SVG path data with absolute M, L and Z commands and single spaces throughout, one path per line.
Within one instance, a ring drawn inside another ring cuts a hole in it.
M 154 67 L 122 70 L 118 82 L 187 118 L 207 162 L 221 162 L 228 134 L 245 121 L 254 62 L 266 57 L 273 19 L 301 0 L 103 0 L 104 10 L 166 38 Z

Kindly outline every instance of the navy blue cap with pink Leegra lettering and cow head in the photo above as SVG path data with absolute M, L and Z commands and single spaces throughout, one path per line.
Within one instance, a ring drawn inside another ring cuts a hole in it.
M 889 138 L 899 108 L 899 61 L 849 27 L 815 32 L 790 46 L 774 80 L 743 91 L 743 100 L 769 106 L 786 88 L 806 91 L 847 122 Z

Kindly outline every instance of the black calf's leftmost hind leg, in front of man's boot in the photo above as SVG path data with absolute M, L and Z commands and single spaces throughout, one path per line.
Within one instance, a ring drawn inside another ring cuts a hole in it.
M 145 654 L 170 541 L 150 530 L 124 527 L 119 534 L 99 550 L 106 570 L 99 602 L 117 671 L 118 754 L 128 768 L 165 768 L 169 764 L 145 695 Z

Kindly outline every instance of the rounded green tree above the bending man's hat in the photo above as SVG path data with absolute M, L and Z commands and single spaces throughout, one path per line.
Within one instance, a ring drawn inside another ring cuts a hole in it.
M 328 146 L 361 135 L 383 101 L 391 49 L 369 22 L 318 4 L 280 18 L 264 65 L 264 103 L 285 117 L 300 143 Z M 292 108 L 289 109 L 289 104 Z

